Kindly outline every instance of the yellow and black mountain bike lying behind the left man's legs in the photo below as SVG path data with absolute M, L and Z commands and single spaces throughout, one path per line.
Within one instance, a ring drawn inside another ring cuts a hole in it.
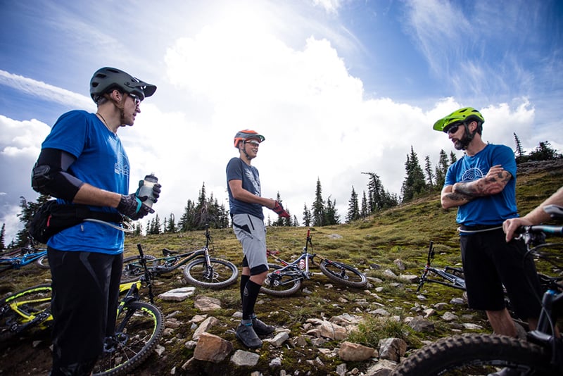
M 141 263 L 144 261 L 140 246 Z M 139 289 L 148 287 L 151 303 L 140 301 Z M 103 353 L 94 367 L 94 375 L 123 375 L 151 355 L 163 335 L 163 314 L 154 306 L 152 280 L 148 270 L 135 282 L 120 284 L 125 294 L 118 305 L 115 334 L 106 337 Z M 51 326 L 51 285 L 39 284 L 11 294 L 0 301 L 0 346 L 8 346 L 16 335 Z M 84 322 L 88 325 L 88 322 Z

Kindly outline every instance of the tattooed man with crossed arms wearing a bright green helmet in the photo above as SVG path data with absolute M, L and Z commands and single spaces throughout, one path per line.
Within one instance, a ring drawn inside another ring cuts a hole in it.
M 536 327 L 540 305 L 536 267 L 529 258 L 523 267 L 523 242 L 505 242 L 502 223 L 518 217 L 516 161 L 505 145 L 481 139 L 485 119 L 475 108 L 460 108 L 434 124 L 448 134 L 455 149 L 465 155 L 450 165 L 441 192 L 442 207 L 457 208 L 460 245 L 469 306 L 486 311 L 496 334 L 516 337 L 505 308 L 502 285 L 520 318 Z M 529 280 L 534 286 L 529 287 Z

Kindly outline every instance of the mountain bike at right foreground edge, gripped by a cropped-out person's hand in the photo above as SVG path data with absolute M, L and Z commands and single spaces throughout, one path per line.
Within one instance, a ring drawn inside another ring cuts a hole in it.
M 552 217 L 563 208 L 546 206 Z M 546 260 L 557 269 L 562 257 L 553 255 L 563 243 L 545 243 L 545 234 L 563 236 L 563 226 L 523 226 L 520 237 L 526 244 L 525 257 Z M 543 249 L 551 249 L 545 252 Z M 519 375 L 563 375 L 563 341 L 557 320 L 563 311 L 562 278 L 550 279 L 550 287 L 541 299 L 542 311 L 536 330 L 527 332 L 527 340 L 495 334 L 461 334 L 439 339 L 418 349 L 400 363 L 391 375 L 488 375 L 508 368 Z M 540 297 L 538 296 L 538 299 Z

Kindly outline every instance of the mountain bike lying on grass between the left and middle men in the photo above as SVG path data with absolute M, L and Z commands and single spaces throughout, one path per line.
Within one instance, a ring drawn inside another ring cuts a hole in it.
M 148 272 L 153 276 L 162 275 L 188 263 L 184 267 L 184 278 L 190 284 L 211 289 L 222 289 L 233 284 L 239 276 L 239 270 L 230 261 L 210 257 L 210 240 L 209 227 L 205 226 L 205 246 L 201 249 L 185 253 L 163 249 L 163 257 L 159 258 L 146 255 Z M 137 280 L 142 273 L 139 256 L 123 260 L 122 282 Z

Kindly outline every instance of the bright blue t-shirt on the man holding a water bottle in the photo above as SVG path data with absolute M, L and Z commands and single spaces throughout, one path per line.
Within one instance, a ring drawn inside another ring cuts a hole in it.
M 69 173 L 94 187 L 110 192 L 129 192 L 129 158 L 121 140 L 94 113 L 70 111 L 56 121 L 42 149 L 66 151 L 76 157 Z M 68 203 L 58 199 L 61 203 Z M 95 211 L 117 213 L 110 207 L 90 206 Z M 60 251 L 122 253 L 124 233 L 101 223 L 84 222 L 53 235 L 47 245 Z

